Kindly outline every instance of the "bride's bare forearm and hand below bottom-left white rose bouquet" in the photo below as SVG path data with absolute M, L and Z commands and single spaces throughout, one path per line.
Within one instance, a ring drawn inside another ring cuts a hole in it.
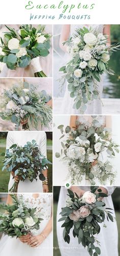
M 38 247 L 49 236 L 51 231 L 52 231 L 52 217 L 48 221 L 46 227 L 43 229 L 41 234 L 35 237 L 31 237 L 31 239 L 27 244 L 30 245 L 31 247 Z

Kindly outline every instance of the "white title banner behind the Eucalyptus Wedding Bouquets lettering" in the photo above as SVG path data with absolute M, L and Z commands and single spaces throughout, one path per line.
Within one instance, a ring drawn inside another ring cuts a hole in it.
M 71 14 L 72 15 L 85 15 L 90 14 L 91 19 L 87 19 L 86 21 L 84 19 L 81 20 L 67 20 L 67 19 L 59 19 L 59 14 L 62 13 L 62 9 L 32 9 L 32 10 L 26 10 L 25 5 L 28 4 L 28 0 L 1 0 L 1 16 L 0 16 L 0 23 L 1 24 L 119 24 L 119 9 L 120 9 L 120 1 L 114 0 L 114 1 L 108 1 L 108 0 L 63 0 L 63 5 L 69 5 L 75 4 L 76 7 L 79 3 L 82 5 L 91 5 L 95 4 L 95 7 L 93 10 L 77 10 L 74 9 Z M 61 2 L 61 0 L 32 0 L 33 4 L 35 6 L 37 5 L 52 5 L 55 4 L 56 6 Z M 44 19 L 44 20 L 32 20 L 29 21 L 30 14 L 35 15 L 55 15 L 54 20 Z M 67 12 L 65 15 L 68 15 Z

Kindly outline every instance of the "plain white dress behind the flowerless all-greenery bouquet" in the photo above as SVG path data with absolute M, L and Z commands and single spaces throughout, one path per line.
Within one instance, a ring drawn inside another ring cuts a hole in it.
M 6 148 L 10 148 L 13 144 L 17 144 L 19 146 L 24 146 L 27 141 L 32 142 L 32 140 L 36 140 L 37 144 L 39 145 L 41 153 L 46 157 L 46 133 L 45 132 L 8 132 L 7 135 L 7 144 Z M 8 185 L 8 191 L 13 186 L 14 179 L 12 174 L 10 175 L 10 181 Z M 19 181 L 18 185 L 18 193 L 37 193 L 37 192 L 43 192 L 43 185 L 42 181 L 34 180 L 33 182 L 30 182 L 28 180 L 25 180 L 24 182 Z

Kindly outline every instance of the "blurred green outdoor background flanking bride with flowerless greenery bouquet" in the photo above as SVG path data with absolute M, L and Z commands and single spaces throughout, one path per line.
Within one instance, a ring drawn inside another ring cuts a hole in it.
M 10 173 L 7 171 L 2 171 L 3 159 L 1 155 L 6 151 L 6 138 L 8 132 L 0 132 L 0 192 L 8 192 L 8 183 L 10 178 Z M 47 157 L 50 162 L 52 162 L 52 132 L 46 132 L 47 136 Z M 48 165 L 48 178 L 49 178 L 49 192 L 52 192 L 52 165 Z

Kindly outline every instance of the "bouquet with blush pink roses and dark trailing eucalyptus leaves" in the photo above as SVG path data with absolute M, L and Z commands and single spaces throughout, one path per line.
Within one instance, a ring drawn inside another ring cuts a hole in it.
M 100 242 L 95 235 L 100 233 L 99 223 L 103 223 L 105 217 L 113 222 L 113 217 L 110 214 L 110 208 L 105 208 L 105 203 L 99 201 L 100 197 L 107 196 L 102 193 L 101 189 L 91 187 L 91 192 L 86 191 L 81 198 L 75 193 L 68 190 L 69 197 L 66 201 L 66 207 L 62 208 L 62 218 L 58 221 L 64 221 L 63 237 L 65 242 L 70 243 L 70 230 L 73 229 L 73 237 L 78 238 L 78 243 L 87 247 L 89 255 L 98 256 L 101 254 Z M 98 192 L 98 193 L 97 193 Z M 105 226 L 105 224 L 104 224 Z

